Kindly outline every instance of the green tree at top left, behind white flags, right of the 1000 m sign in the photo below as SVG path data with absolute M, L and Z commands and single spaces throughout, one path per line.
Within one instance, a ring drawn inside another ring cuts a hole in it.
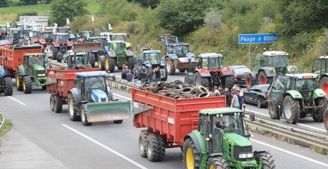
M 72 22 L 74 17 L 86 15 L 88 11 L 84 8 L 85 6 L 87 6 L 87 3 L 82 0 L 52 1 L 50 5 L 52 22 L 58 24 L 58 26 L 66 25 L 66 18 L 69 18 Z

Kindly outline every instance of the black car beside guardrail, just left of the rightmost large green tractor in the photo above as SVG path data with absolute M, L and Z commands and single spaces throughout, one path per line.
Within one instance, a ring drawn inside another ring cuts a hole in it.
M 266 92 L 270 85 L 256 85 L 244 91 L 244 99 L 247 103 L 256 104 L 258 108 L 268 107 L 268 97 Z

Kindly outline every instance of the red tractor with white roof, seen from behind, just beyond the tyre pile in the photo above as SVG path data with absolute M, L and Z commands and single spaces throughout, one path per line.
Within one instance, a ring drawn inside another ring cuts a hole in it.
M 189 59 L 191 63 L 194 57 Z M 198 59 L 198 66 L 188 69 L 185 84 L 193 83 L 194 86 L 203 86 L 213 90 L 214 86 L 231 89 L 234 86 L 232 69 L 223 67 L 224 57 L 217 53 L 203 53 Z

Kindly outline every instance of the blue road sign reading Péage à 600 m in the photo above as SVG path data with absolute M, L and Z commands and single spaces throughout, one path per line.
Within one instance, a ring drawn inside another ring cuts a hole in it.
M 278 34 L 239 34 L 238 44 L 268 44 L 278 40 Z

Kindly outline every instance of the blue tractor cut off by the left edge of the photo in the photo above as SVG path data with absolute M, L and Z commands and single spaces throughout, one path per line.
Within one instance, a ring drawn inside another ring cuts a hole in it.
M 12 80 L 10 72 L 6 72 L 4 67 L 0 66 L 0 93 L 5 96 L 12 95 Z

